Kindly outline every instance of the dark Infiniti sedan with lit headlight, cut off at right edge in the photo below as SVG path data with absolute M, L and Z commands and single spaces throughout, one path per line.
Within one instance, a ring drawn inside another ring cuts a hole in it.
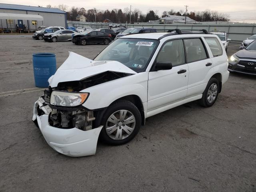
M 256 75 L 256 40 L 230 57 L 228 70 Z

